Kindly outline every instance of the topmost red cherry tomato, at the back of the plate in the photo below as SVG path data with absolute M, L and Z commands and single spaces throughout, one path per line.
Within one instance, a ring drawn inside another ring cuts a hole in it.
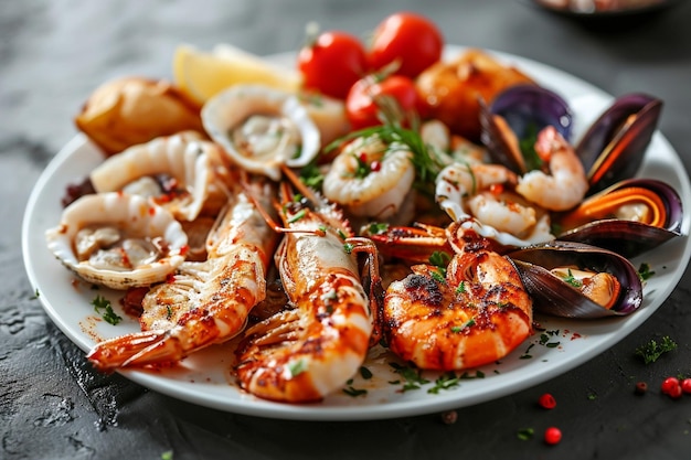
M 400 60 L 396 72 L 415 78 L 442 57 L 444 38 L 437 26 L 419 14 L 400 12 L 382 21 L 374 30 L 370 65 L 374 71 Z

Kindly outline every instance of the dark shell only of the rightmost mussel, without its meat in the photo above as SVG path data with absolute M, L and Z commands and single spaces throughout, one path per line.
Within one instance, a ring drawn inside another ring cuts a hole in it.
M 634 194 L 636 189 L 647 189 L 660 199 L 659 204 L 662 205 L 662 208 L 656 212 L 665 216 L 661 225 L 620 218 L 598 218 L 563 232 L 557 235 L 557 239 L 598 246 L 631 258 L 680 236 L 683 218 L 681 199 L 671 185 L 659 180 L 629 179 L 620 181 L 587 197 L 582 206 L 607 204 L 615 192 L 627 193 L 631 191 Z M 563 221 L 568 215 L 567 213 L 555 218 L 555 223 L 559 225 L 560 220 Z

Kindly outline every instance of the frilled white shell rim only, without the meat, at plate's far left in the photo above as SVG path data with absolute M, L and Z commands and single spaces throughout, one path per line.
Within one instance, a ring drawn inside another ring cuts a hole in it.
M 79 229 L 94 224 L 109 224 L 127 228 L 132 234 L 162 237 L 168 254 L 131 270 L 93 267 L 88 260 L 78 260 L 74 238 Z M 82 279 L 118 290 L 166 280 L 184 261 L 188 245 L 187 234 L 169 211 L 141 196 L 117 192 L 82 196 L 63 211 L 60 224 L 47 229 L 45 238 L 53 255 Z

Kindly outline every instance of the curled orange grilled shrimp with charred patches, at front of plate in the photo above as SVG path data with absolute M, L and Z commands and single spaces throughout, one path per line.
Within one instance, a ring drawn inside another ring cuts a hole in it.
M 456 233 L 457 232 L 457 233 Z M 383 308 L 391 351 L 424 370 L 459 371 L 495 362 L 532 333 L 532 300 L 518 271 L 491 243 L 458 223 L 460 244 L 444 277 L 413 266 L 392 282 Z

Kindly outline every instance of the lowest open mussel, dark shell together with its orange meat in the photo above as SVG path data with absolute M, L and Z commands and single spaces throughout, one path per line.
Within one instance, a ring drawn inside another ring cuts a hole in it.
M 614 252 L 554 240 L 511 252 L 508 257 L 536 311 L 596 319 L 629 314 L 642 303 L 638 271 Z

